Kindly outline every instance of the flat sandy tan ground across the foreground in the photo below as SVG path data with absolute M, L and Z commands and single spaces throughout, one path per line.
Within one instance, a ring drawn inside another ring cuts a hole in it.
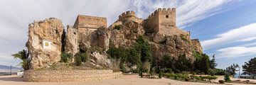
M 119 79 L 75 82 L 26 82 L 16 75 L 0 76 L 0 85 L 213 85 L 172 79 L 146 79 L 137 75 L 124 75 Z

